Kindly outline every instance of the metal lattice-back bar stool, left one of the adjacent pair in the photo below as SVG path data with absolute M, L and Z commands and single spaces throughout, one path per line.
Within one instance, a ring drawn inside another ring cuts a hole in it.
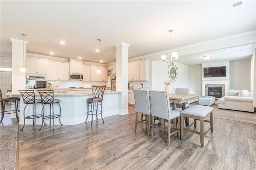
M 22 96 L 23 103 L 26 104 L 26 106 L 24 107 L 24 110 L 23 110 L 24 125 L 20 130 L 23 130 L 23 128 L 25 126 L 25 119 L 33 119 L 34 130 L 36 130 L 36 119 L 40 118 L 40 117 L 42 119 L 42 125 L 41 125 L 41 128 L 42 128 L 42 126 L 43 126 L 42 114 L 40 114 L 40 115 L 36 114 L 36 104 L 41 103 L 41 99 L 35 99 L 34 90 L 19 90 L 19 92 Z M 32 104 L 33 104 L 33 115 L 29 115 L 29 116 L 25 117 L 26 107 L 28 105 L 32 105 Z M 41 130 L 41 128 L 39 130 Z

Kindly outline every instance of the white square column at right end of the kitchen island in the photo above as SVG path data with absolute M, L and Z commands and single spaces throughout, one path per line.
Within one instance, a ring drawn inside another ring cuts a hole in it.
M 120 93 L 118 100 L 118 114 L 128 114 L 128 47 L 129 44 L 120 43 L 116 46 L 116 90 Z

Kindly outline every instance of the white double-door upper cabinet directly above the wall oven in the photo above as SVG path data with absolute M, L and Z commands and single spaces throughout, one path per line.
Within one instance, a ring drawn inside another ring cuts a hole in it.
M 47 59 L 26 57 L 26 73 L 47 74 Z

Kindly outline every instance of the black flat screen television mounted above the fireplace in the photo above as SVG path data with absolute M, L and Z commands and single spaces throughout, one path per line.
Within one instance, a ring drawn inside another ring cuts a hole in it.
M 226 66 L 206 67 L 204 77 L 226 77 Z

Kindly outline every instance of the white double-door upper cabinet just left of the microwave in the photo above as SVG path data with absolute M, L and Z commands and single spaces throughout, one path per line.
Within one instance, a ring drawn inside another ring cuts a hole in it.
M 48 61 L 47 80 L 68 81 L 69 74 L 69 63 Z

